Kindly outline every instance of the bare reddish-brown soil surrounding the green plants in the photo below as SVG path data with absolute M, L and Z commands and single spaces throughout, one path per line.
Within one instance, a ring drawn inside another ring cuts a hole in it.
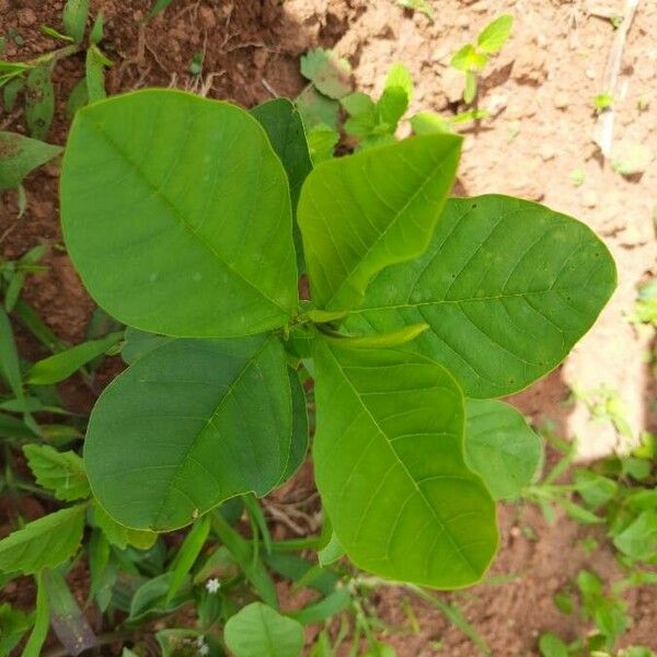
M 448 67 L 451 54 L 475 37 L 495 15 L 516 18 L 514 35 L 482 81 L 481 106 L 493 116 L 465 131 L 460 192 L 507 193 L 540 200 L 587 222 L 607 242 L 619 266 L 612 302 L 567 362 L 545 381 L 515 397 L 532 419 L 554 420 L 563 435 L 578 439 L 583 458 L 608 452 L 618 440 L 611 425 L 593 424 L 583 404 L 566 404 L 573 385 L 589 391 L 604 384 L 625 405 L 634 435 L 655 426 L 656 396 L 645 354 L 650 335 L 638 333 L 626 315 L 637 285 L 657 275 L 657 2 L 639 0 L 623 48 L 614 96 L 614 155 L 632 145 L 653 150 L 643 173 L 623 177 L 599 155 L 593 142 L 598 119 L 593 97 L 609 91 L 606 76 L 618 32 L 610 16 L 623 15 L 624 0 L 430 0 L 435 22 L 400 9 L 393 0 L 177 0 L 141 26 L 146 0 L 92 0 L 103 10 L 106 43 L 116 62 L 108 91 L 149 85 L 198 89 L 189 74 L 195 53 L 205 53 L 203 83 L 212 97 L 246 106 L 272 97 L 295 96 L 303 87 L 299 56 L 322 45 L 334 47 L 354 67 L 356 87 L 381 87 L 391 64 L 412 71 L 414 107 L 446 115 L 458 111 L 462 81 Z M 64 0 L 0 0 L 0 32 L 15 27 L 25 38 L 4 56 L 28 58 L 53 48 L 39 32 L 59 26 Z M 82 70 L 81 59 L 64 61 L 56 72 L 58 96 L 66 97 Z M 646 106 L 647 105 L 647 106 Z M 19 113 L 0 114 L 0 129 L 20 130 Z M 62 142 L 62 106 L 50 140 Z M 39 242 L 61 243 L 57 176 L 48 165 L 26 185 L 28 210 L 15 221 L 15 199 L 0 197 L 0 249 L 14 257 Z M 26 293 L 64 339 L 80 341 L 93 306 L 61 249 L 48 256 L 48 273 L 34 277 Z M 73 403 L 89 402 L 73 397 Z M 495 656 L 537 655 L 537 637 L 553 630 L 565 638 L 578 620 L 557 612 L 554 591 L 586 566 L 613 580 L 611 552 L 587 555 L 578 542 L 590 530 L 560 519 L 548 526 L 533 508 L 500 509 L 503 541 L 492 575 L 512 581 L 481 585 L 453 595 Z M 526 531 L 531 527 L 533 532 Z M 528 538 L 535 534 L 535 539 Z M 378 610 L 394 625 L 408 627 L 403 595 L 381 591 Z M 633 629 L 623 645 L 657 649 L 657 595 L 633 591 L 627 598 Z M 476 648 L 435 611 L 414 603 L 419 630 L 387 638 L 402 657 L 476 655 Z M 430 642 L 440 642 L 441 648 Z

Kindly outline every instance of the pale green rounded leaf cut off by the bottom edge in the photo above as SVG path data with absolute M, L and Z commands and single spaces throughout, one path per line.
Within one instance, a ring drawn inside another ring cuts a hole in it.
M 303 627 L 276 610 L 252 602 L 226 623 L 226 645 L 235 657 L 298 657 Z

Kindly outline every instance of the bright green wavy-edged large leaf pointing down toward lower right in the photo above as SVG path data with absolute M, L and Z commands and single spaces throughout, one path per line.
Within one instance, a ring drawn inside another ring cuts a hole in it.
M 359 567 L 439 588 L 481 578 L 495 506 L 463 460 L 463 396 L 431 360 L 397 350 L 315 350 L 318 488 Z

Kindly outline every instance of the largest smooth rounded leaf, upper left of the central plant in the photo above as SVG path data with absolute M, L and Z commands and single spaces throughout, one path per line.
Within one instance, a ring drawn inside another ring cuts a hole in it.
M 261 333 L 297 307 L 290 197 L 245 111 L 178 91 L 76 115 L 61 174 L 66 243 L 122 322 L 181 337 Z

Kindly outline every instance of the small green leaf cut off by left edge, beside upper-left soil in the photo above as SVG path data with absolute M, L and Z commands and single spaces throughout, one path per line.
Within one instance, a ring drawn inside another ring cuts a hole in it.
M 0 192 L 18 187 L 34 169 L 61 152 L 59 146 L 0 131 Z

